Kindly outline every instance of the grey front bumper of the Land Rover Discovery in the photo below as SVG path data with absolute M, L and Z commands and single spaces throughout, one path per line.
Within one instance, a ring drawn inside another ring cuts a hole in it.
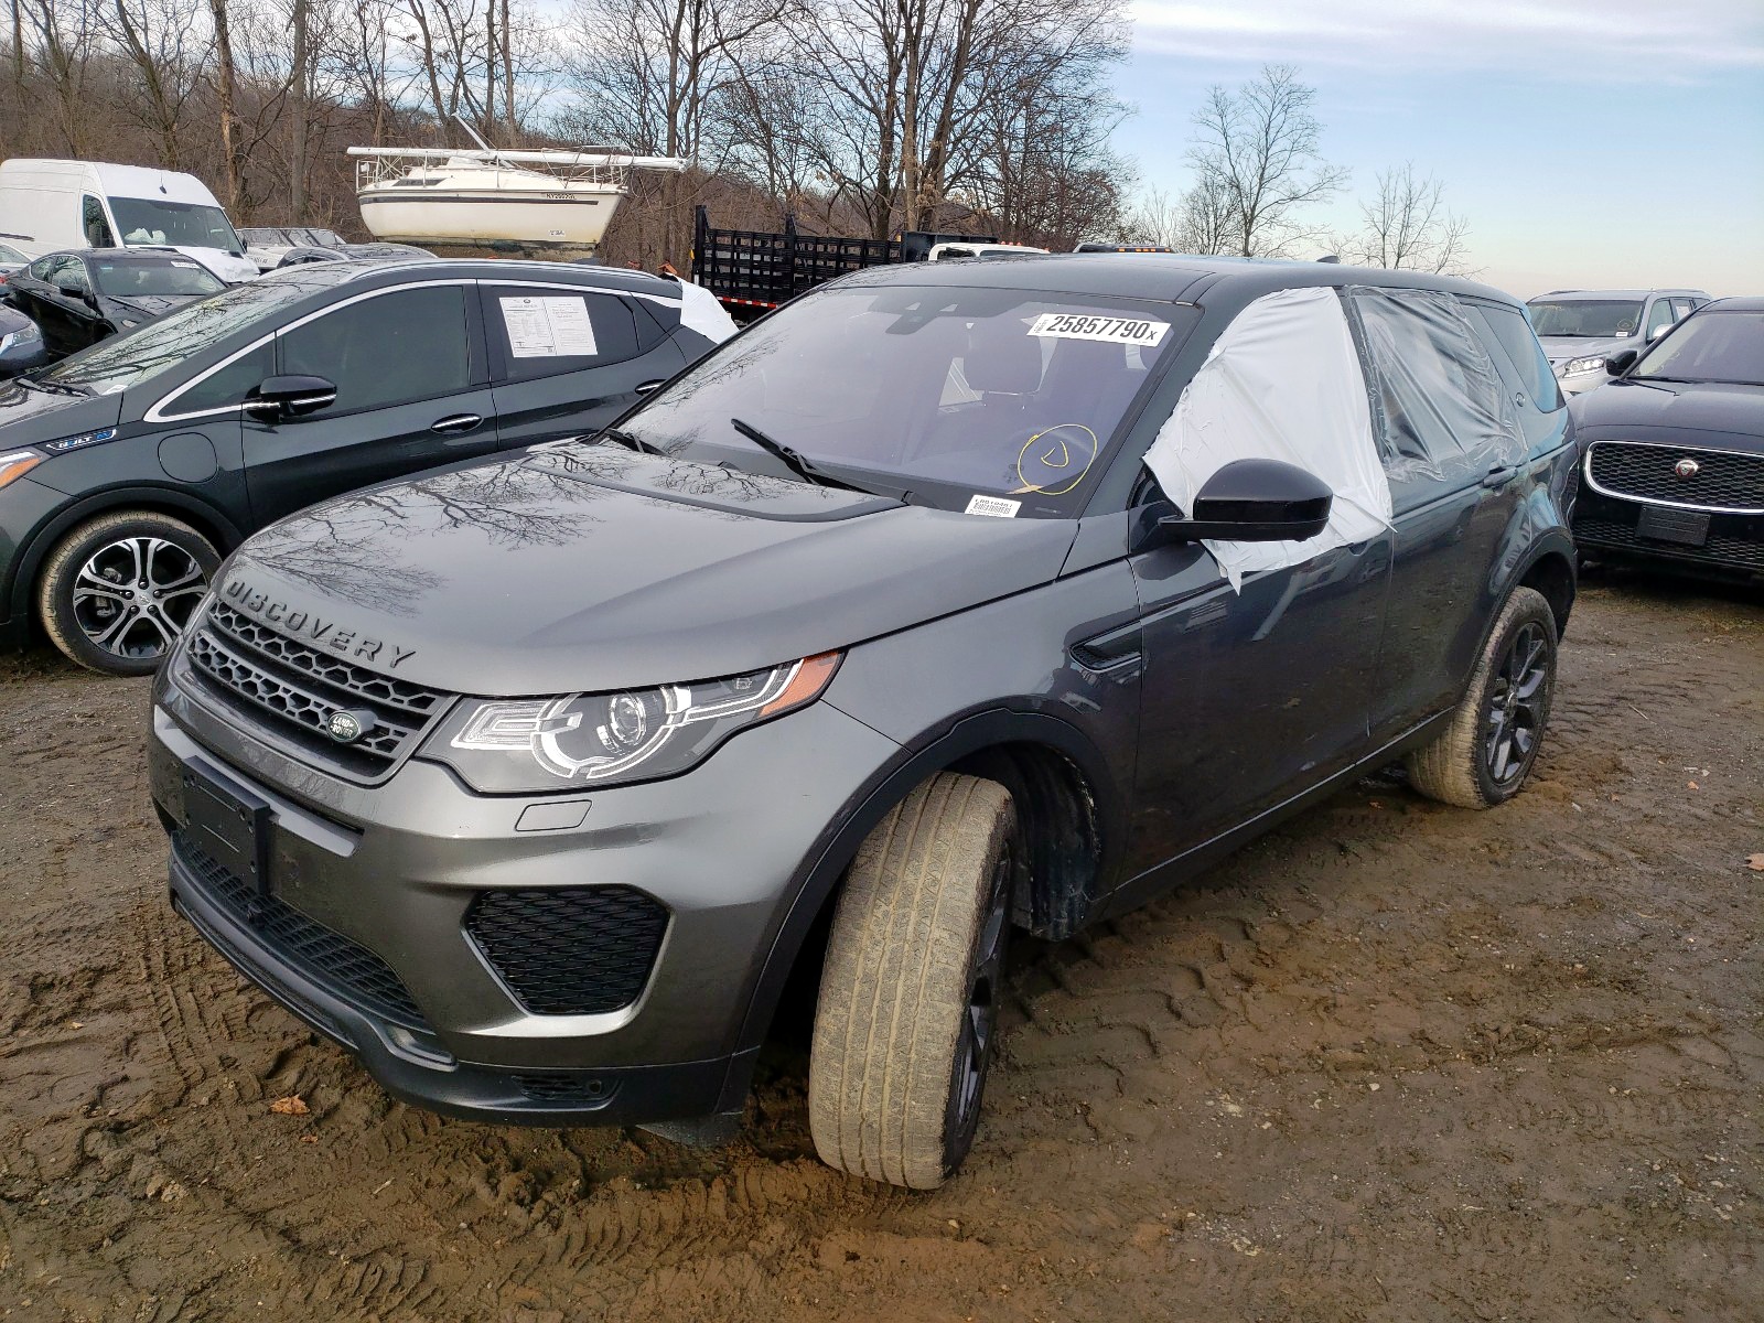
M 173 833 L 178 910 L 399 1097 L 540 1124 L 741 1106 L 759 1046 L 741 1041 L 743 1027 L 773 940 L 850 797 L 898 753 L 813 704 L 743 732 L 684 776 L 593 792 L 573 827 L 517 831 L 529 804 L 557 797 L 476 796 L 420 760 L 362 787 L 240 725 L 192 695 L 175 654 L 155 691 L 148 766 Z M 268 803 L 268 916 L 189 848 L 191 774 Z M 667 910 L 640 995 L 600 1014 L 531 1011 L 466 931 L 475 900 L 602 886 Z

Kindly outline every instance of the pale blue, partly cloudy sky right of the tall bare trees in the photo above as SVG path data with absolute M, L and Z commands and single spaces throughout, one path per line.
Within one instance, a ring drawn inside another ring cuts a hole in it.
M 1764 295 L 1764 0 L 1132 0 L 1115 134 L 1178 192 L 1207 88 L 1297 65 L 1323 155 L 1353 171 L 1318 208 L 1413 162 L 1469 219 L 1485 282 Z

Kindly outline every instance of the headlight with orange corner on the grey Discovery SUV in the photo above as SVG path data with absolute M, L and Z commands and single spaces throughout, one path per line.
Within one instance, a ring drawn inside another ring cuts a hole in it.
M 746 676 L 561 699 L 467 699 L 423 743 L 485 794 L 651 781 L 683 773 L 737 730 L 820 697 L 822 653 Z

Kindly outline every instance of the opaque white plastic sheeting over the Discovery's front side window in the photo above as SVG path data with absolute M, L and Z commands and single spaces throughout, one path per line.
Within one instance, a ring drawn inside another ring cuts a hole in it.
M 1335 289 L 1282 289 L 1238 312 L 1145 453 L 1164 496 L 1187 513 L 1205 482 L 1238 459 L 1297 464 L 1335 501 L 1328 527 L 1307 542 L 1203 543 L 1231 587 L 1390 526 L 1360 353 Z

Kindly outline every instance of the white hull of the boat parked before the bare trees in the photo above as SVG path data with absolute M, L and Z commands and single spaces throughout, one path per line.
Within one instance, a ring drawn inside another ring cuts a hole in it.
M 370 187 L 356 194 L 374 238 L 420 247 L 593 256 L 623 199 L 605 191 Z

